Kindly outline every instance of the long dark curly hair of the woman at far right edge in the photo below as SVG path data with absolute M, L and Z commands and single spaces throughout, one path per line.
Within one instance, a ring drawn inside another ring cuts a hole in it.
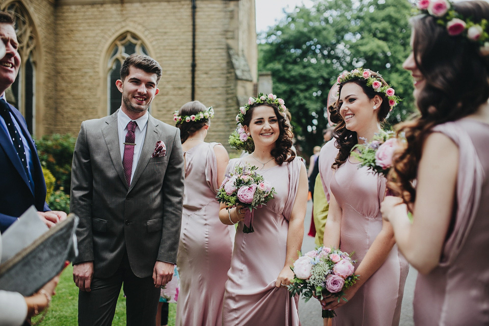
M 489 20 L 489 4 L 484 1 L 453 3 L 456 12 L 477 23 Z M 413 55 L 426 86 L 417 96 L 419 116 L 400 124 L 406 145 L 394 156 L 388 186 L 406 204 L 414 203 L 421 150 L 431 129 L 441 123 L 466 117 L 489 98 L 489 61 L 481 57 L 478 43 L 464 36 L 449 36 L 445 26 L 429 15 L 416 16 L 413 26 Z M 410 207 L 410 205 L 408 205 Z

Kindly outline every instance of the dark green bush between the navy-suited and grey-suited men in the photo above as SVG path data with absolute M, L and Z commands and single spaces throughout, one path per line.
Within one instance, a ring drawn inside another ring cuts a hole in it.
M 70 134 L 44 135 L 36 140 L 37 153 L 41 165 L 48 169 L 56 179 L 55 191 L 63 188 L 66 194 L 71 186 L 71 160 L 76 138 Z

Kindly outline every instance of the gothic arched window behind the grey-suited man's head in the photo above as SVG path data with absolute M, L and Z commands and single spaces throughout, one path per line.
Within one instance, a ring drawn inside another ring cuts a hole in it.
M 107 107 L 108 114 L 113 114 L 121 106 L 121 93 L 117 89 L 116 80 L 120 79 L 121 65 L 124 59 L 137 53 L 148 55 L 143 42 L 131 32 L 119 36 L 112 46 L 111 56 L 107 63 Z

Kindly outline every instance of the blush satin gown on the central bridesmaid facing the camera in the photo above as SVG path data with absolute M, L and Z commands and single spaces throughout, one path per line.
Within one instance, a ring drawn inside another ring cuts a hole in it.
M 227 172 L 242 164 L 231 159 Z M 244 234 L 239 222 L 231 269 L 224 295 L 224 326 L 297 326 L 297 297 L 286 288 L 275 287 L 285 265 L 288 219 L 297 193 L 301 158 L 258 171 L 275 187 L 277 194 L 254 213 L 254 233 Z

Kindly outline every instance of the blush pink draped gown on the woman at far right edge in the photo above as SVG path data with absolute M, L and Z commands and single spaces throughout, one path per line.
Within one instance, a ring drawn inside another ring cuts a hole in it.
M 489 325 L 489 125 L 462 119 L 433 130 L 458 146 L 456 211 L 439 265 L 418 274 L 414 321 L 416 326 Z

